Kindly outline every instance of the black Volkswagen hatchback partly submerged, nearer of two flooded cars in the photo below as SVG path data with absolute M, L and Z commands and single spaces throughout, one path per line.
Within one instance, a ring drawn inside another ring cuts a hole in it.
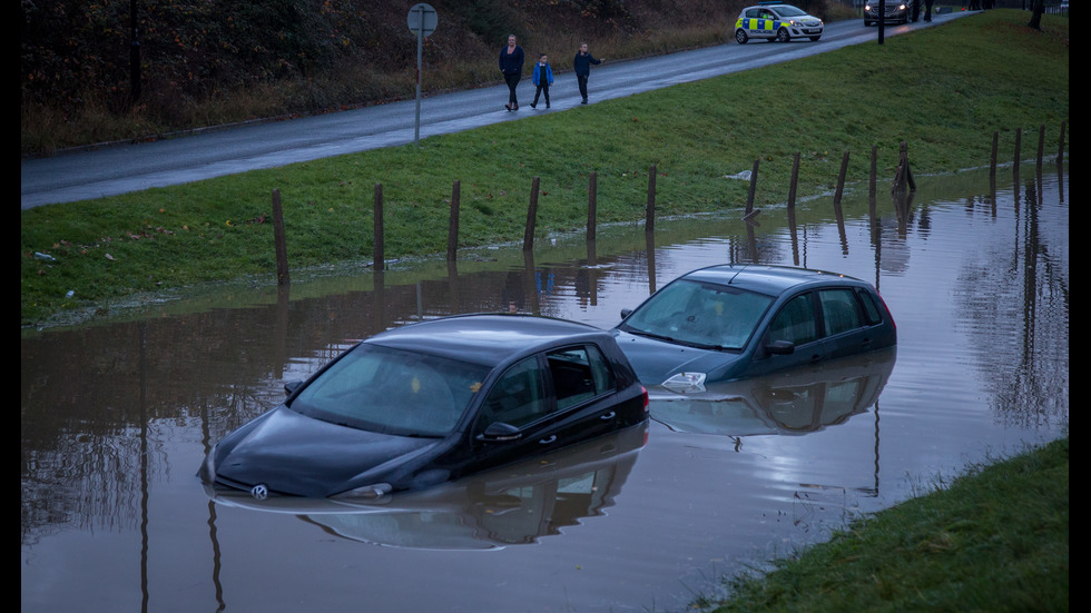
M 609 332 L 528 315 L 410 324 L 356 344 L 225 436 L 216 487 L 308 497 L 420 490 L 648 419 Z

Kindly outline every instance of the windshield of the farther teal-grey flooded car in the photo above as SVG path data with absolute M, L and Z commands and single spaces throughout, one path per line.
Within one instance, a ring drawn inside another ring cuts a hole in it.
M 621 329 L 686 345 L 741 349 L 773 300 L 727 285 L 679 279 L 637 308 Z

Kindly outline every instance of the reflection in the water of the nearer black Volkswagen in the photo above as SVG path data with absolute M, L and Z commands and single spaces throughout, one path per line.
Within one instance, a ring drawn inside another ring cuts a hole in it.
M 353 502 L 274 496 L 205 485 L 216 503 L 298 515 L 326 532 L 364 543 L 431 550 L 498 550 L 603 515 L 613 505 L 648 422 L 550 454 L 429 490 Z

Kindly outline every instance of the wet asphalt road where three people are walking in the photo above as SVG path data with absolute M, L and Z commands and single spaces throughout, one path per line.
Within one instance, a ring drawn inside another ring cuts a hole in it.
M 932 23 L 887 26 L 884 37 L 914 28 L 941 24 L 969 13 L 937 16 Z M 589 106 L 652 89 L 760 68 L 832 51 L 849 45 L 877 45 L 878 30 L 862 20 L 826 26 L 818 42 L 788 43 L 751 40 L 638 60 L 611 62 L 608 50 L 591 47 L 606 61 L 591 68 Z M 499 46 L 498 46 L 499 48 Z M 573 51 L 574 55 L 574 51 Z M 531 109 L 534 89 L 530 78 L 519 85 L 520 109 L 509 112 L 503 83 L 438 95 L 421 100 L 420 138 L 458 132 L 512 121 L 543 112 L 580 107 L 576 77 L 569 60 L 553 62 L 556 81 L 551 109 Z M 640 75 L 635 79 L 633 75 Z M 426 69 L 423 75 L 426 81 Z M 499 70 L 498 70 L 499 79 Z M 416 100 L 332 112 L 285 121 L 261 121 L 208 129 L 153 142 L 104 146 L 22 160 L 22 209 L 166 187 L 202 179 L 275 168 L 298 161 L 406 145 L 416 138 Z

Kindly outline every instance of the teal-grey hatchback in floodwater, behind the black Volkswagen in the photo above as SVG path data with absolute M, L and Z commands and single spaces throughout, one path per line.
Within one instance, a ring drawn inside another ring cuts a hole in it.
M 700 268 L 621 317 L 618 346 L 649 387 L 700 388 L 897 343 L 869 283 L 788 266 Z

